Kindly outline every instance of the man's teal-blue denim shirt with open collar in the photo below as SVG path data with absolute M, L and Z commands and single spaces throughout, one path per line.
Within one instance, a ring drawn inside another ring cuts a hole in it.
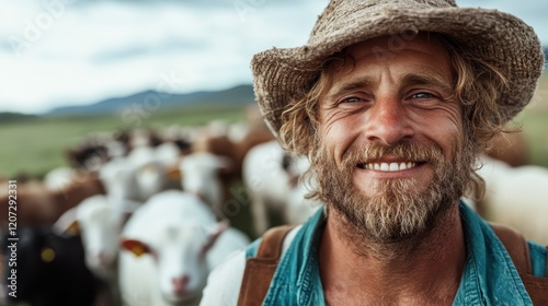
M 467 259 L 453 305 L 533 305 L 520 274 L 491 226 L 466 204 L 459 207 Z M 296 234 L 279 261 L 263 305 L 326 305 L 318 264 L 326 225 L 319 210 Z M 260 240 L 247 256 L 254 256 Z M 529 242 L 533 272 L 546 276 L 546 248 Z

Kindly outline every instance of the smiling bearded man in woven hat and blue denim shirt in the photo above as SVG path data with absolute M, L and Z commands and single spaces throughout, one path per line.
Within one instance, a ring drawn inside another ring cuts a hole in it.
M 307 46 L 255 55 L 265 120 L 326 202 L 284 239 L 263 305 L 532 305 L 513 251 L 459 199 L 481 195 L 476 157 L 543 61 L 521 20 L 450 0 L 333 0 Z M 210 274 L 202 305 L 237 304 L 259 244 Z M 546 278 L 546 248 L 528 250 Z

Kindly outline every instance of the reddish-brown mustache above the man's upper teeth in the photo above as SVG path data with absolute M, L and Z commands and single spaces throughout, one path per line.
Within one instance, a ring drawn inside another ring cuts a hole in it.
M 379 162 L 385 156 L 434 165 L 444 163 L 442 148 L 410 141 L 401 141 L 389 146 L 370 142 L 362 148 L 351 148 L 344 153 L 342 163 L 345 168 L 353 168 L 357 164 Z

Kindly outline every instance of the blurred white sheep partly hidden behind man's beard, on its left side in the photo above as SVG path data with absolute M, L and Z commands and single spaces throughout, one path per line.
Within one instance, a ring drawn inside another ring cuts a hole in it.
M 286 224 L 298 224 L 321 205 L 305 201 L 308 190 L 298 180 L 308 166 L 306 157 L 287 155 L 277 141 L 259 144 L 246 155 L 243 183 L 251 197 L 256 235 L 270 227 L 270 215 L 281 215 Z

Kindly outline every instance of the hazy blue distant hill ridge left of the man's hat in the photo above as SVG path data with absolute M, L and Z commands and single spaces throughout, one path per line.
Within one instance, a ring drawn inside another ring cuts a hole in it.
M 201 91 L 187 94 L 159 93 L 146 91 L 125 97 L 114 97 L 89 105 L 62 106 L 44 116 L 109 115 L 123 111 L 127 107 L 140 105 L 157 109 L 169 109 L 190 105 L 247 105 L 253 103 L 253 86 L 239 85 L 224 91 Z M 146 108 L 145 108 L 146 109 Z

